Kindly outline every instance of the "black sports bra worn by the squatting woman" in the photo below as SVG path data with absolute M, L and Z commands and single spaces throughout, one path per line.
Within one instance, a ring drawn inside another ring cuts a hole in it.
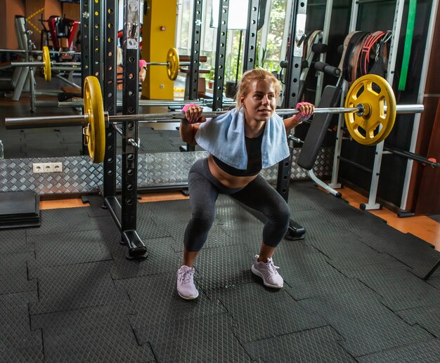
M 233 166 L 225 164 L 220 159 L 212 155 L 215 164 L 219 168 L 231 176 L 256 176 L 261 171 L 261 143 L 263 141 L 263 134 L 257 138 L 246 138 L 246 152 L 247 152 L 247 168 L 246 169 L 235 169 Z

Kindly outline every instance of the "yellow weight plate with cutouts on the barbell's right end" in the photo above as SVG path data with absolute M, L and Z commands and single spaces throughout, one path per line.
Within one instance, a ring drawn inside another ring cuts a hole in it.
M 357 107 L 362 104 L 365 112 L 362 116 L 346 113 L 345 124 L 354 140 L 363 145 L 376 145 L 382 142 L 392 131 L 396 121 L 396 98 L 387 80 L 376 74 L 365 74 L 351 85 L 345 107 Z M 385 106 L 387 112 L 385 112 Z

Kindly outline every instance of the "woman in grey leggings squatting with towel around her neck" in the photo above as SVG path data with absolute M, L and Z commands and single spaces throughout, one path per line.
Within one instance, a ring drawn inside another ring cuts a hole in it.
M 234 110 L 202 123 L 206 120 L 201 117 L 200 107 L 183 107 L 187 121 L 180 125 L 182 140 L 200 145 L 209 157 L 196 161 L 188 176 L 192 216 L 185 231 L 182 265 L 177 271 L 181 298 L 198 297 L 193 264 L 214 222 L 219 193 L 230 194 L 264 213 L 267 220 L 261 249 L 251 269 L 264 285 L 283 287 L 283 277 L 273 265 L 272 256 L 289 227 L 290 210 L 283 197 L 259 176 L 259 171 L 289 156 L 286 131 L 309 119 L 314 106 L 299 103 L 299 114 L 281 119 L 275 114 L 279 94 L 280 84 L 273 74 L 250 70 L 240 80 Z

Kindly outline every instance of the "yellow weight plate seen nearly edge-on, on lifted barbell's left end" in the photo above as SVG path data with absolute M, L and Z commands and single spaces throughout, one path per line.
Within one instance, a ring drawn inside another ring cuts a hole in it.
M 105 154 L 105 117 L 101 86 L 96 77 L 86 77 L 84 81 L 84 114 L 89 124 L 84 128 L 89 156 L 93 163 L 99 164 Z

